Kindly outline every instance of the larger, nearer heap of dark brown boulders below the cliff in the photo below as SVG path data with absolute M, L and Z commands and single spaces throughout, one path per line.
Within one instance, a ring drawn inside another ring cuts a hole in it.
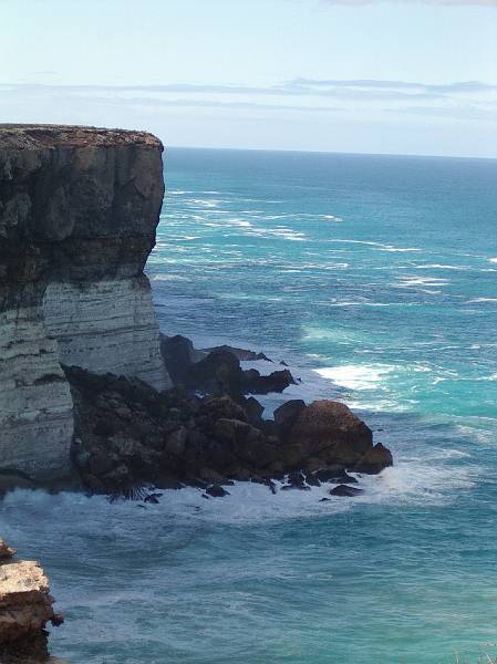
M 379 473 L 392 464 L 367 426 L 336 402 L 288 402 L 266 421 L 253 397 L 159 393 L 136 378 L 65 371 L 76 412 L 73 458 L 90 491 L 142 496 L 144 486 L 232 479 L 272 487 L 287 474 L 286 488 L 308 489 L 355 483 L 346 470 Z

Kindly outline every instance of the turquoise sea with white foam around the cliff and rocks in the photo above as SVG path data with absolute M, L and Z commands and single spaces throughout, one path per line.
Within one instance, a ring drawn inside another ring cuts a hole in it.
M 392 448 L 365 494 L 238 485 L 139 509 L 17 492 L 74 664 L 497 656 L 497 163 L 170 149 L 162 329 L 286 360 Z M 280 401 L 270 397 L 268 412 Z

